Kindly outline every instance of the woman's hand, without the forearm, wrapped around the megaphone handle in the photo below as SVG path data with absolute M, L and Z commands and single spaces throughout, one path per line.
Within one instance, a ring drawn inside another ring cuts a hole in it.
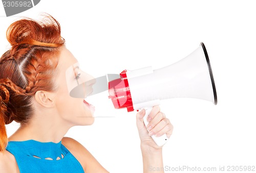
M 150 146 L 153 147 L 153 149 L 161 149 L 162 147 L 158 146 L 151 136 L 161 136 L 166 133 L 169 138 L 173 133 L 173 125 L 170 123 L 169 119 L 165 117 L 165 114 L 160 112 L 159 106 L 154 106 L 151 113 L 148 115 L 147 121 L 149 123 L 147 127 L 145 127 L 143 122 L 144 115 L 145 110 L 142 109 L 136 116 L 141 146 Z

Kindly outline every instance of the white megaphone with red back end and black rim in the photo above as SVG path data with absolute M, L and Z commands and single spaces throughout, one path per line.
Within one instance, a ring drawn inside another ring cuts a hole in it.
M 144 108 L 146 127 L 152 107 L 167 98 L 199 98 L 217 105 L 214 76 L 203 42 L 193 53 L 172 65 L 156 70 L 152 67 L 123 70 L 119 79 L 109 81 L 109 94 L 116 109 L 127 108 L 130 112 Z M 152 138 L 158 146 L 168 140 L 166 134 Z

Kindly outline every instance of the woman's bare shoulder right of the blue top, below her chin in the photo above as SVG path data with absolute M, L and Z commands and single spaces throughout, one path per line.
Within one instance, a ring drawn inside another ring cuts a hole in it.
M 81 143 L 69 137 L 63 137 L 61 143 L 82 165 L 84 172 L 108 172 Z

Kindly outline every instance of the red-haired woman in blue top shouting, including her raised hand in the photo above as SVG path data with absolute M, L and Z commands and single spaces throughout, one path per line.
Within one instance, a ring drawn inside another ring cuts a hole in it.
M 67 77 L 77 60 L 65 47 L 59 23 L 51 16 L 20 19 L 8 28 L 7 39 L 11 48 L 0 59 L 1 172 L 108 172 L 79 142 L 63 137 L 73 126 L 92 125 L 94 118 L 83 98 L 69 94 L 69 80 L 91 77 L 79 68 Z M 162 147 L 150 135 L 170 137 L 173 126 L 155 106 L 148 132 L 144 115 L 142 110 L 136 117 L 143 170 L 149 172 L 163 167 Z M 13 120 L 20 127 L 8 139 L 5 125 Z

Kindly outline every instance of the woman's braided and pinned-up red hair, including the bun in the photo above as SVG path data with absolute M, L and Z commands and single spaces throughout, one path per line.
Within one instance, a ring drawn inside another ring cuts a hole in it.
M 36 91 L 55 90 L 53 74 L 65 44 L 58 21 L 49 15 L 41 21 L 17 20 L 6 36 L 11 48 L 0 58 L 0 151 L 8 143 L 5 125 L 27 123 Z

